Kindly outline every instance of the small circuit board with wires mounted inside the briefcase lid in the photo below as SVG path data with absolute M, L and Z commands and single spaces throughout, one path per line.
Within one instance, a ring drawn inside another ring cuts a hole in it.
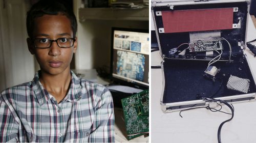
M 189 52 L 222 50 L 222 41 L 219 39 L 197 40 L 189 42 Z

